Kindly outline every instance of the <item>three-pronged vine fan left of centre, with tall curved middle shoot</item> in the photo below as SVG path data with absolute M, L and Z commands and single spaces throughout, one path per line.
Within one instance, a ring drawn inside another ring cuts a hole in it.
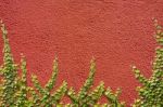
M 62 85 L 51 94 L 51 90 L 53 89 L 58 76 L 58 59 L 55 58 L 53 62 L 53 72 L 51 79 L 48 81 L 45 88 L 42 88 L 37 80 L 36 76 L 33 76 L 33 82 L 35 88 L 39 93 L 39 97 L 36 99 L 36 105 L 41 107 L 51 107 L 60 104 L 62 97 L 65 95 L 67 90 L 67 83 L 63 81 Z M 36 96 L 35 96 L 36 97 Z

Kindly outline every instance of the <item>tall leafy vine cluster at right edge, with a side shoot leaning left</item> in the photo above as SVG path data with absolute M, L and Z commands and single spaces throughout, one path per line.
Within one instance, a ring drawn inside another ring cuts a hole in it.
M 152 63 L 152 76 L 146 78 L 137 67 L 133 67 L 135 77 L 142 86 L 138 86 L 139 98 L 133 107 L 163 107 L 163 28 L 154 21 L 156 28 L 155 39 L 159 46 L 155 49 L 155 57 Z

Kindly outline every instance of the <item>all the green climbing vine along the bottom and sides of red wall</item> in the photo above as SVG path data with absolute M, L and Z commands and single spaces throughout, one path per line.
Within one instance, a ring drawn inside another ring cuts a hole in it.
M 146 78 L 136 66 L 133 66 L 136 79 L 142 84 L 137 88 L 138 98 L 135 99 L 133 107 L 163 107 L 163 28 L 156 19 L 154 25 L 159 46 L 155 49 L 152 76 Z M 79 92 L 76 92 L 73 86 L 68 88 L 66 81 L 55 88 L 59 72 L 58 57 L 53 61 L 52 75 L 48 83 L 42 86 L 37 76 L 32 75 L 34 86 L 28 86 L 26 58 L 22 55 L 20 64 L 15 64 L 8 30 L 2 22 L 1 31 L 4 45 L 3 63 L 0 66 L 0 107 L 125 107 L 125 103 L 118 99 L 120 89 L 113 92 L 111 88 L 105 88 L 102 81 L 92 89 L 96 72 L 95 58 L 90 61 L 89 75 Z M 70 104 L 63 104 L 64 96 L 70 98 Z M 108 99 L 108 103 L 99 103 L 102 96 Z

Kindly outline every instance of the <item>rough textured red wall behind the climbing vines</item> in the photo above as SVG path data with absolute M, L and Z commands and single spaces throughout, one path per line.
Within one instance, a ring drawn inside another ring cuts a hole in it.
M 121 98 L 129 105 L 138 85 L 130 65 L 150 76 L 155 48 L 152 17 L 163 23 L 163 0 L 0 0 L 0 17 L 15 61 L 20 53 L 27 57 L 28 78 L 36 73 L 45 84 L 57 54 L 58 85 L 67 80 L 78 90 L 95 56 L 95 85 L 102 80 L 113 90 L 122 88 Z M 0 38 L 0 50 L 2 45 Z

